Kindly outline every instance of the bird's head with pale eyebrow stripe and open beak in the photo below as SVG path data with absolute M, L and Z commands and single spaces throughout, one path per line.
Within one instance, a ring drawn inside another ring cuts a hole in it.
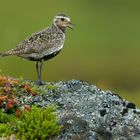
M 53 24 L 63 30 L 67 27 L 73 29 L 74 26 L 74 24 L 70 22 L 70 17 L 65 14 L 56 15 L 54 17 Z

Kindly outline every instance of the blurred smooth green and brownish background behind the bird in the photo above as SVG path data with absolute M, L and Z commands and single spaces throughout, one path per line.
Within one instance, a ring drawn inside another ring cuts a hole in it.
M 76 24 L 43 80 L 81 79 L 140 106 L 140 2 L 132 0 L 0 0 L 0 52 L 67 13 Z M 36 80 L 35 62 L 0 59 L 2 75 Z

